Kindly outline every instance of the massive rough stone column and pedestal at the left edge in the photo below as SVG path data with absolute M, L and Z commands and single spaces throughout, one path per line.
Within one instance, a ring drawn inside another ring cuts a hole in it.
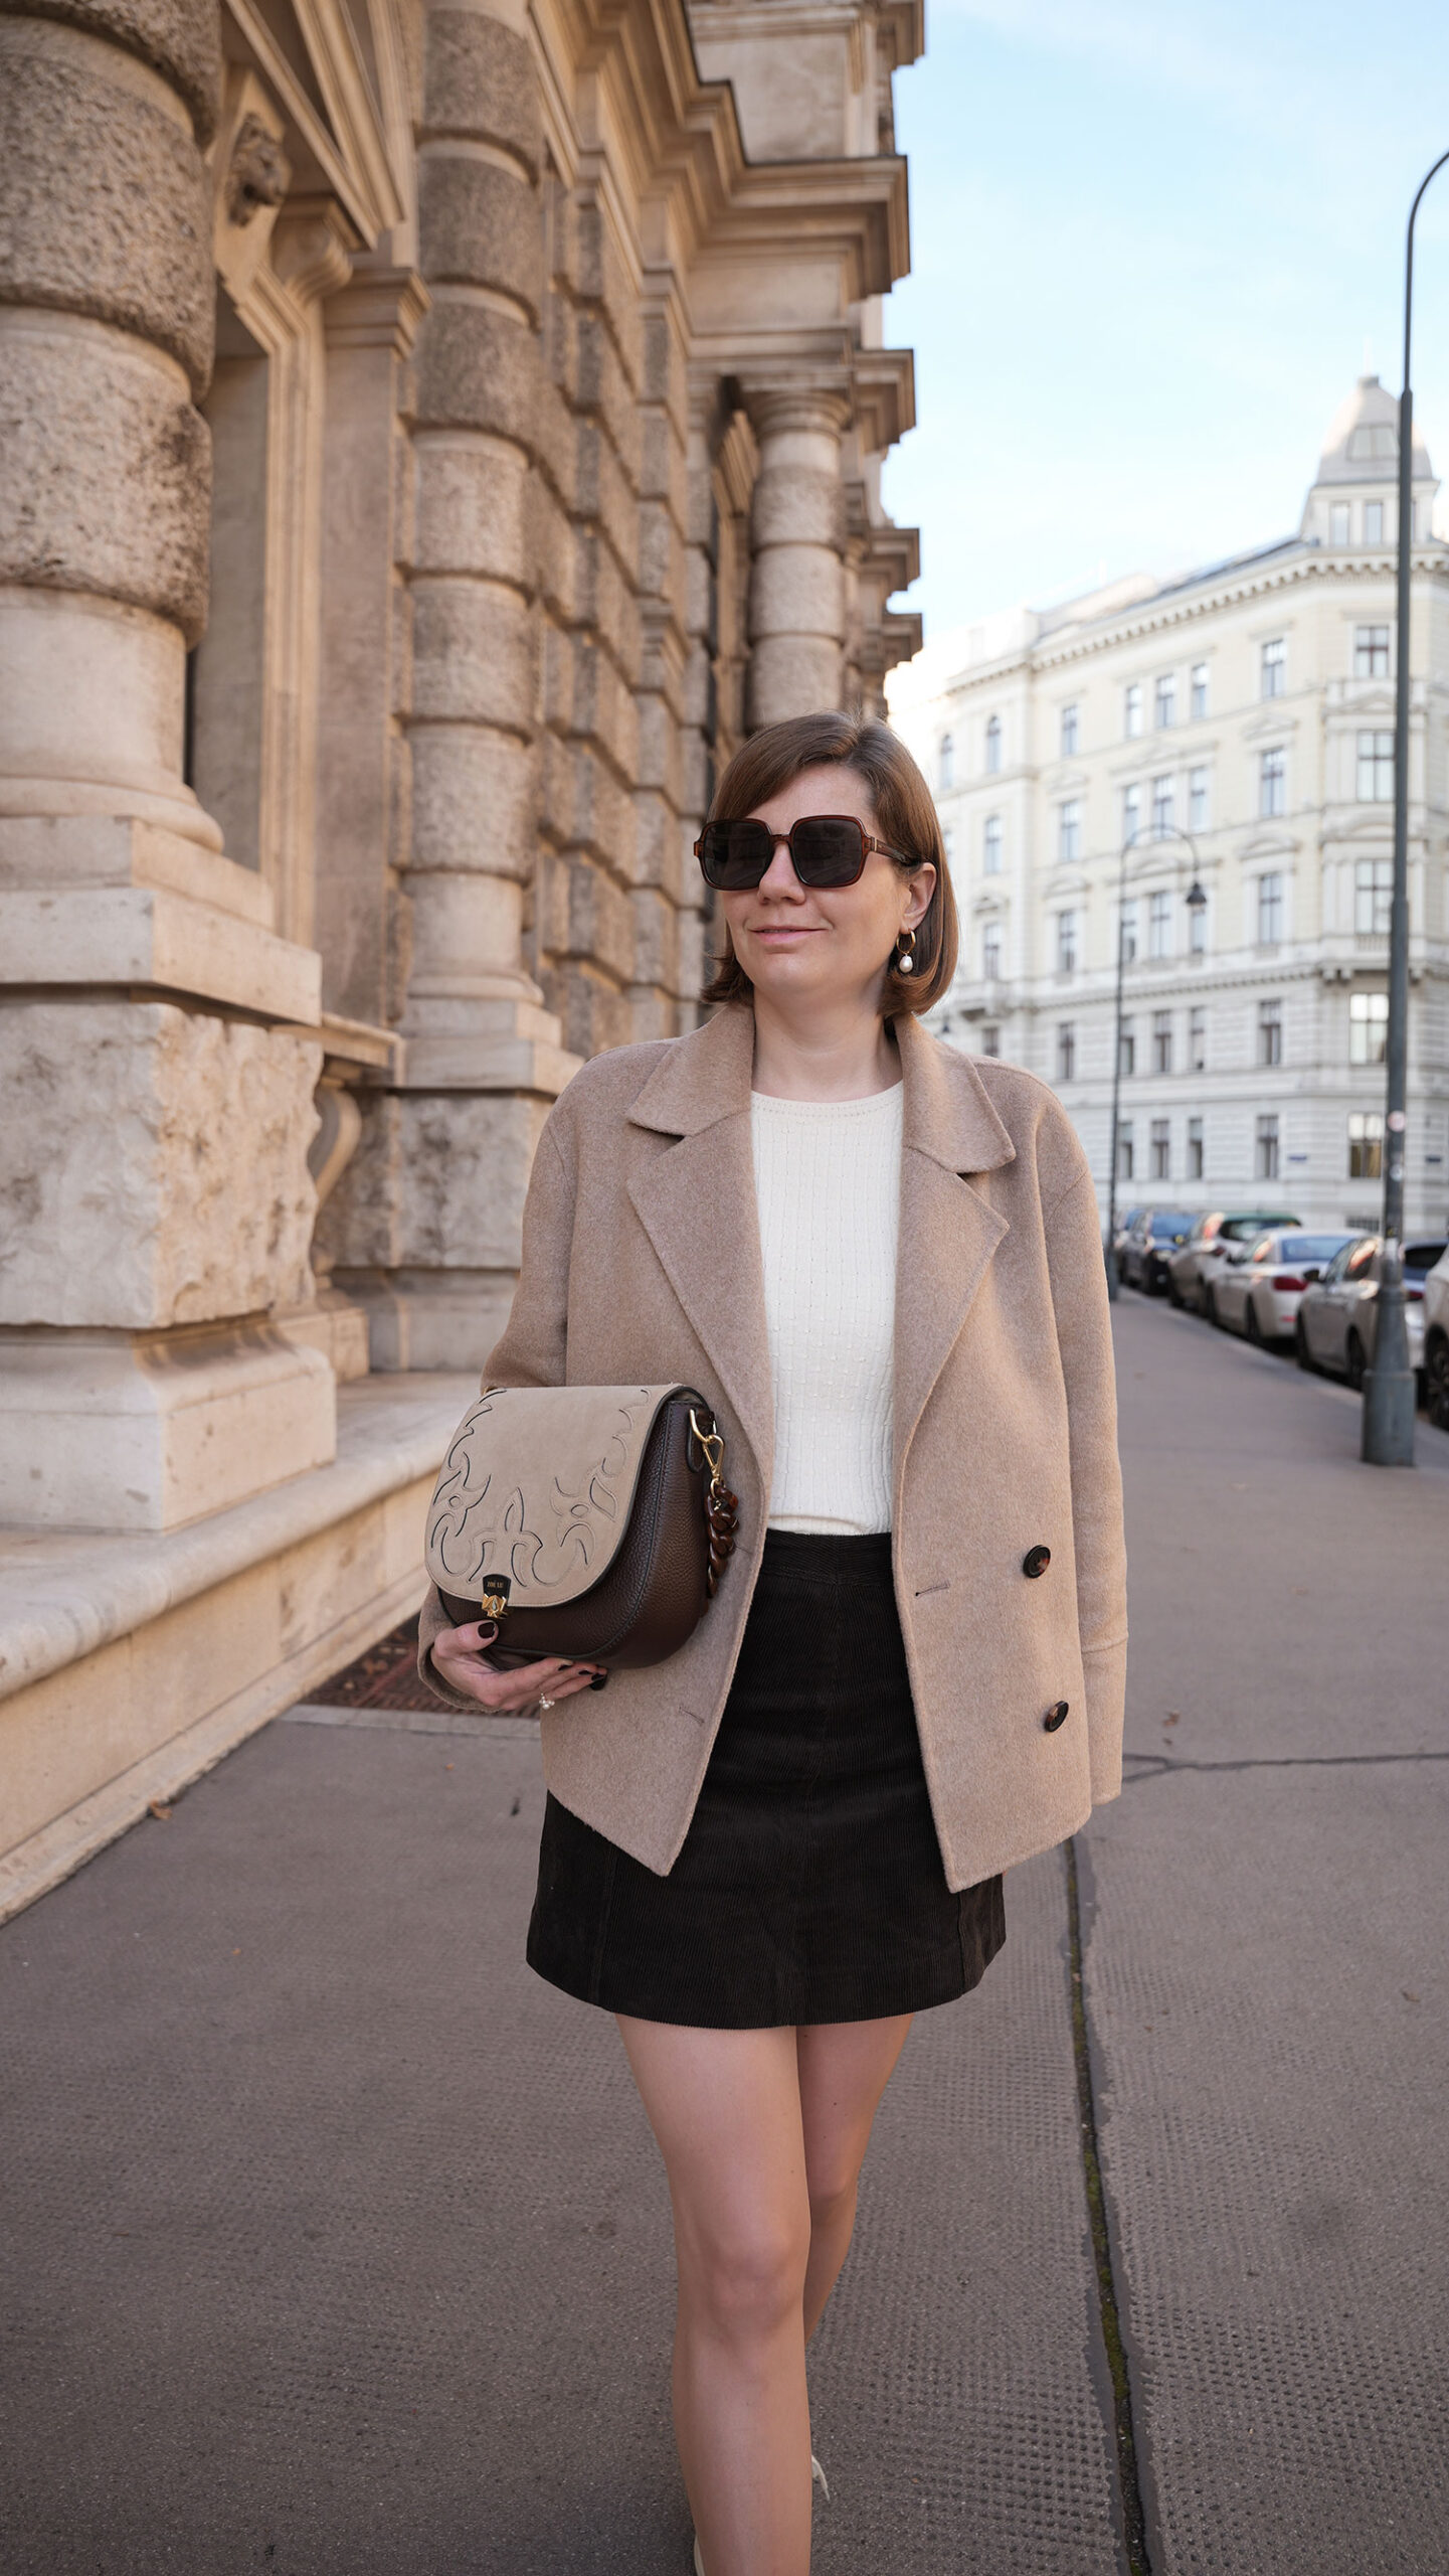
M 206 618 L 211 0 L 0 18 L 0 1520 L 322 1463 L 309 951 L 183 783 Z M 286 1028 L 281 1025 L 286 1023 Z

